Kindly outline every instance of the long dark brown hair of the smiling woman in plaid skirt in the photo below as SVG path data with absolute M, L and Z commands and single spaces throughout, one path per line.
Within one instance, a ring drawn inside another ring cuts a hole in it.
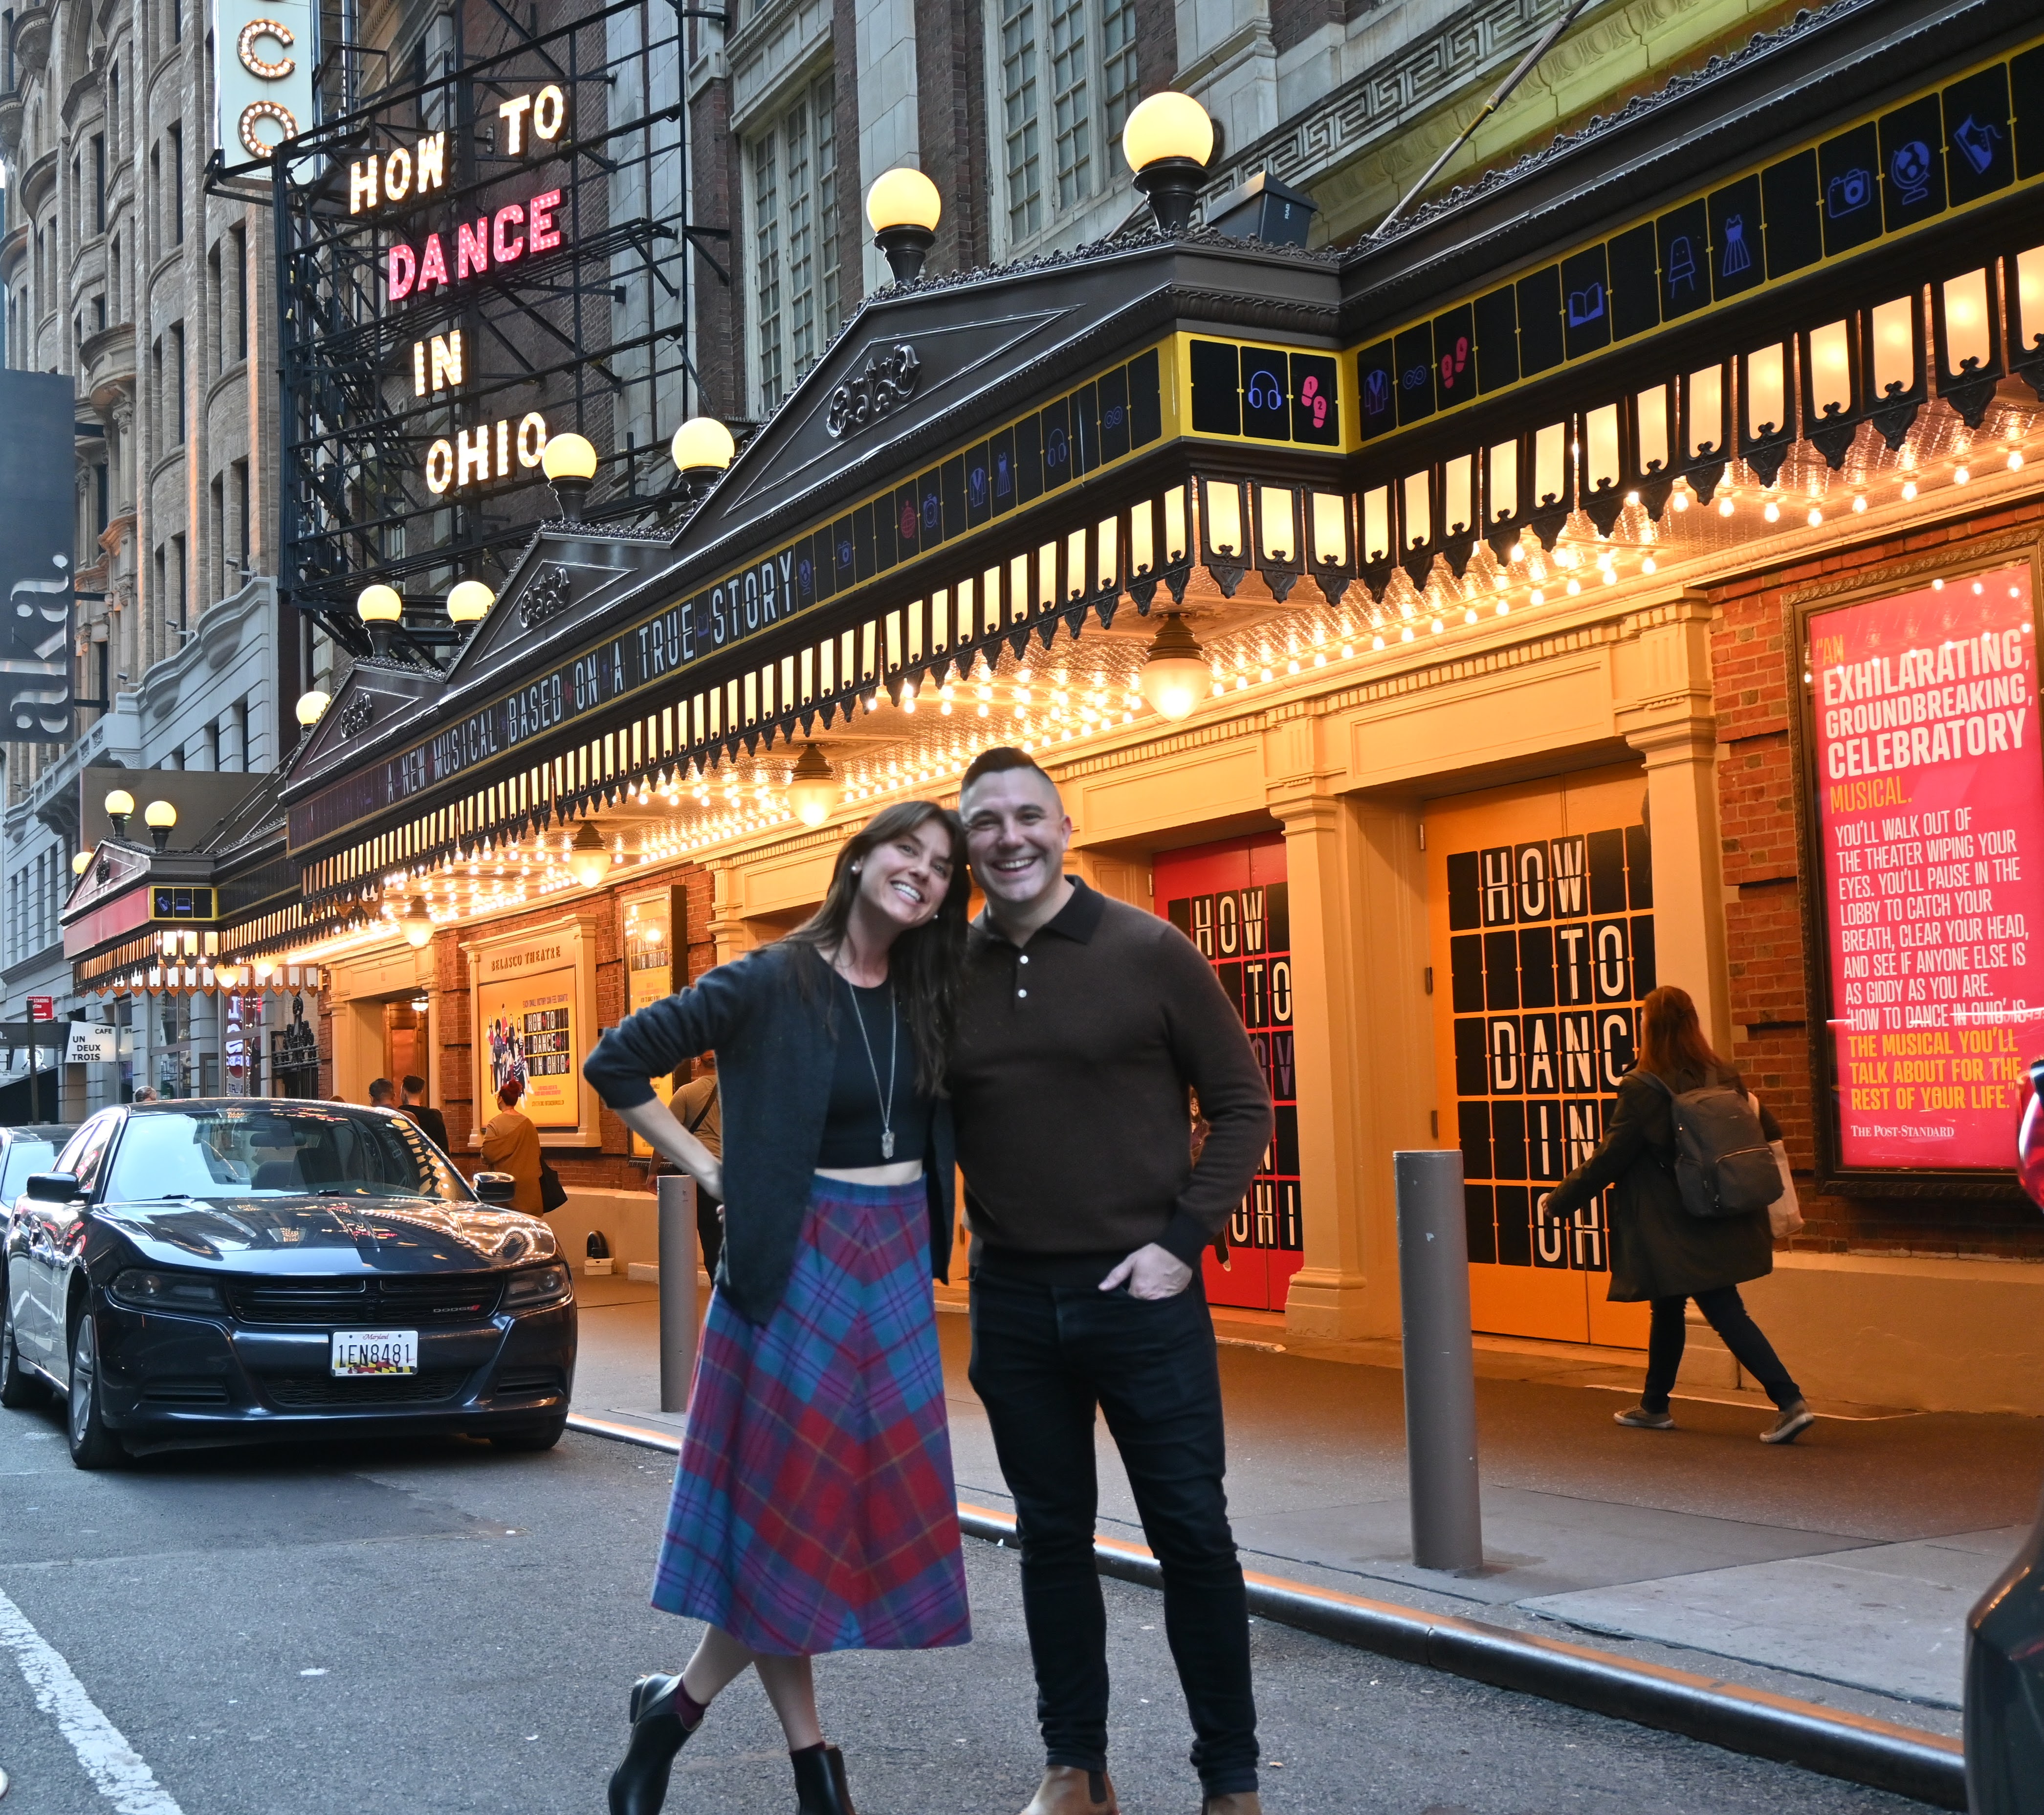
M 852 924 L 852 901 L 858 895 L 858 867 L 869 850 L 897 838 L 914 838 L 932 820 L 950 838 L 950 885 L 936 914 L 922 926 L 903 932 L 887 952 L 887 981 L 908 1018 L 910 1042 L 916 1046 L 916 1087 L 924 1096 L 944 1089 L 950 1065 L 950 1034 L 959 1012 L 959 973 L 965 969 L 965 905 L 973 883 L 965 869 L 965 822 L 936 801 L 901 801 L 883 807 L 861 826 L 838 850 L 838 867 L 830 873 L 830 893 L 785 940 L 801 961 L 795 977 L 805 993 L 826 991 L 826 1016 L 836 1008 L 836 991 L 828 989 L 830 959 L 826 952 L 844 944 Z

